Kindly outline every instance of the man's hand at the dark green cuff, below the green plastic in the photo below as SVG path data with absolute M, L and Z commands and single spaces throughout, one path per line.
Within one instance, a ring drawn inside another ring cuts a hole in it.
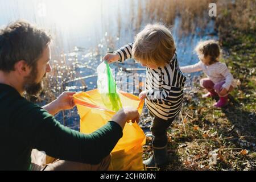
M 133 109 L 131 107 L 124 107 L 123 109 L 119 110 L 117 114 L 115 114 L 112 118 L 112 121 L 118 123 L 123 129 L 125 127 L 125 123 L 135 123 L 139 122 L 139 113 L 137 109 Z

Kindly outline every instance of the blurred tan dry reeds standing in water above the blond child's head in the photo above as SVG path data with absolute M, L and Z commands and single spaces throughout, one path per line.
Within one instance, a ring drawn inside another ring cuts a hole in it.
M 141 26 L 147 23 L 163 22 L 168 26 L 175 23 L 175 19 L 180 19 L 180 35 L 194 34 L 196 28 L 205 28 L 211 18 L 208 16 L 209 0 L 148 0 L 139 1 L 137 16 L 134 23 L 136 32 L 141 30 Z M 143 15 L 143 16 L 142 16 Z

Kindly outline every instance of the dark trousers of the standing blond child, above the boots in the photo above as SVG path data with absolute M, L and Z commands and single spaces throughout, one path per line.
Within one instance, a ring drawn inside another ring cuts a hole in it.
M 171 126 L 171 123 L 174 121 L 176 116 L 166 121 L 164 119 L 154 116 L 152 113 L 150 113 L 150 115 L 154 118 L 150 127 L 151 133 L 154 136 L 153 146 L 164 147 L 168 142 L 167 129 Z

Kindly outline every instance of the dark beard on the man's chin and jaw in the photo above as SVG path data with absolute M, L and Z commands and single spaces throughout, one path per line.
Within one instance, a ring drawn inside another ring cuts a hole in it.
M 39 83 L 36 83 L 37 75 L 38 72 L 35 69 L 25 78 L 23 89 L 30 96 L 38 96 L 43 90 L 43 81 L 41 80 Z M 44 77 L 46 77 L 46 74 L 44 74 Z

